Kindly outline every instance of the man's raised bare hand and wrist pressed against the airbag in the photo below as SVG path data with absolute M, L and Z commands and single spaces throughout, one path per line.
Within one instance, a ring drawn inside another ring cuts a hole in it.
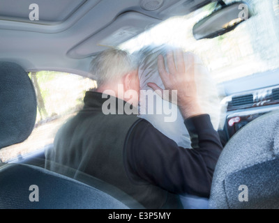
M 176 64 L 174 63 L 174 52 L 167 54 L 167 67 L 165 69 L 165 60 L 162 55 L 158 56 L 158 71 L 165 86 L 169 90 L 169 95 L 164 95 L 165 91 L 155 83 L 148 83 L 153 91 L 160 91 L 164 100 L 172 102 L 172 91 L 177 91 L 177 105 L 183 118 L 190 118 L 203 114 L 197 101 L 197 87 L 195 83 L 195 58 L 193 54 L 187 54 L 187 66 L 184 62 L 184 55 L 181 50 L 176 50 Z

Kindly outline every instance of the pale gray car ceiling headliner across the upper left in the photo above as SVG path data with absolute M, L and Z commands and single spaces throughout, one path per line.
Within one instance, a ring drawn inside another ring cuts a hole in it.
M 107 48 L 98 41 L 127 26 L 123 21 L 133 21 L 140 29 L 211 2 L 165 0 L 158 10 L 144 10 L 142 1 L 0 0 L 0 61 L 18 63 L 27 71 L 57 70 L 86 77 L 93 54 Z M 29 20 L 30 3 L 38 4 L 39 21 Z M 123 21 L 118 20 L 121 16 Z

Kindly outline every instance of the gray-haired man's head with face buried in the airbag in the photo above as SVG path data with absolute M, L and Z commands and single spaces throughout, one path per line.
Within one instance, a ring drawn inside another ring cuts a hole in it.
M 91 74 L 97 81 L 98 92 L 113 91 L 117 98 L 137 105 L 140 95 L 137 63 L 127 52 L 120 49 L 101 52 L 91 62 Z

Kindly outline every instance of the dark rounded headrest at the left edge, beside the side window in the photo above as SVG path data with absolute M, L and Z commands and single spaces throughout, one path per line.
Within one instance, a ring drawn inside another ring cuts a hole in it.
M 0 148 L 27 139 L 36 122 L 36 93 L 27 72 L 0 62 Z

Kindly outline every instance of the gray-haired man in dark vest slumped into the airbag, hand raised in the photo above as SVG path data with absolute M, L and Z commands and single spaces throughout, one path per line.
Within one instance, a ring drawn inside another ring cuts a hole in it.
M 177 90 L 177 105 L 197 148 L 181 148 L 148 121 L 128 114 L 125 108 L 137 105 L 139 98 L 130 93 L 140 92 L 137 64 L 126 52 L 108 49 L 92 61 L 97 91 L 86 92 L 84 109 L 59 130 L 54 151 L 46 154 L 46 168 L 57 171 L 52 165 L 56 163 L 82 171 L 145 208 L 182 208 L 177 194 L 209 197 L 222 146 L 209 115 L 197 102 L 193 58 L 186 68 L 183 52 L 177 51 L 175 57 L 176 64 L 174 54 L 167 54 L 167 72 L 159 56 L 158 70 L 169 94 Z M 149 86 L 165 93 L 154 83 Z M 107 100 L 116 103 L 104 107 Z

